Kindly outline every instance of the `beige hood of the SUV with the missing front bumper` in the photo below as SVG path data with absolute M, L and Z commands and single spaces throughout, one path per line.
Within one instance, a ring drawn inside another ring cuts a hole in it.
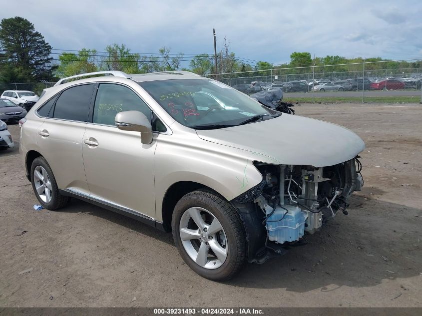
M 365 148 L 364 141 L 347 128 L 285 113 L 196 133 L 203 140 L 266 155 L 285 165 L 332 166 L 354 158 Z

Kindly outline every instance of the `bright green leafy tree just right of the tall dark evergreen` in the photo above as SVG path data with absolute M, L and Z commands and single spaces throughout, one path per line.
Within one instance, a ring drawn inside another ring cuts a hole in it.
M 97 51 L 95 49 L 82 48 L 77 54 L 63 52 L 58 56 L 60 64 L 56 74 L 59 77 L 69 77 L 76 74 L 98 71 Z

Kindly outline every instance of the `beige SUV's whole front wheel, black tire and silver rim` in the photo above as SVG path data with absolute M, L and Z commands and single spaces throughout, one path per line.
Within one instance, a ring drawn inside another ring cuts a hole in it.
M 200 276 L 226 281 L 243 267 L 243 225 L 233 206 L 217 194 L 198 190 L 183 196 L 171 226 L 180 256 Z

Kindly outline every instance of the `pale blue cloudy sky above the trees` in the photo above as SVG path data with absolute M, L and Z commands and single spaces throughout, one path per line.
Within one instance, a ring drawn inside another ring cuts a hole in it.
M 17 2 L 19 5 L 17 6 Z M 422 56 L 421 0 L 70 0 L 4 1 L 0 17 L 30 20 L 53 48 L 132 52 L 162 46 L 185 54 L 213 53 L 230 39 L 236 56 L 283 63 L 293 51 L 315 56 Z

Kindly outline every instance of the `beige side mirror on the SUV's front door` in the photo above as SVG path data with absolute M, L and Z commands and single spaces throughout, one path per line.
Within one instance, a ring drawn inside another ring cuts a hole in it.
M 124 131 L 141 132 L 141 143 L 151 144 L 152 126 L 145 114 L 139 111 L 123 111 L 116 114 L 114 124 Z

